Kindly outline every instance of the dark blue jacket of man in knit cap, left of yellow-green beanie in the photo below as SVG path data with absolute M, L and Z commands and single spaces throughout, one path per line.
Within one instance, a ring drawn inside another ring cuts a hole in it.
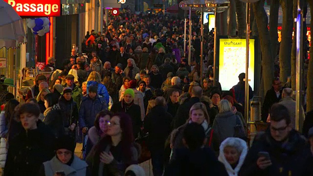
M 79 127 L 90 129 L 94 126 L 96 115 L 101 110 L 108 110 L 108 105 L 103 97 L 97 95 L 95 99 L 91 99 L 89 95 L 84 96 L 79 109 Z

